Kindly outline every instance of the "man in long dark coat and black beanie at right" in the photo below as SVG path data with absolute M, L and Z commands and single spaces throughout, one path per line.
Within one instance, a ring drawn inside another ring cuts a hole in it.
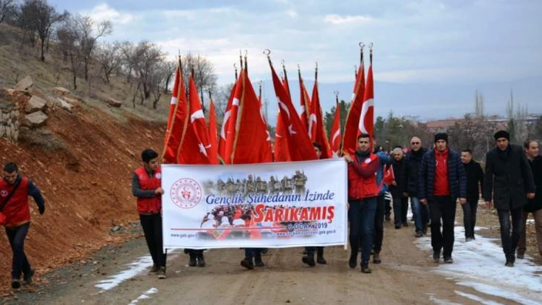
M 523 207 L 527 199 L 534 198 L 533 173 L 521 146 L 510 144 L 510 134 L 504 130 L 494 135 L 496 147 L 486 154 L 483 198 L 488 209 L 495 204 L 501 225 L 502 250 L 506 267 L 514 267 Z M 512 215 L 512 235 L 510 216 Z

